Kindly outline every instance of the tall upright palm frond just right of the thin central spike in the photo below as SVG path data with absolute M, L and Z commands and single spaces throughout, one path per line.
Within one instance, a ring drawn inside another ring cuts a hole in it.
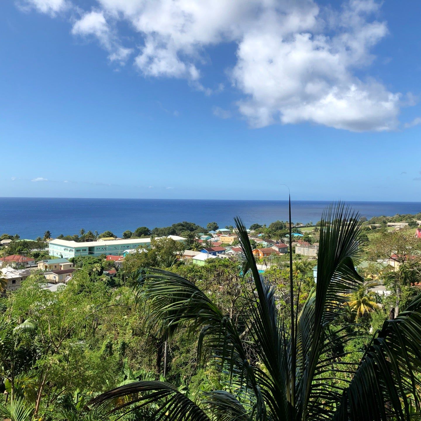
M 305 411 L 314 396 L 314 377 L 320 373 L 317 365 L 324 352 L 328 325 L 344 308 L 345 294 L 357 290 L 364 282 L 354 267 L 360 258 L 359 236 L 358 213 L 341 203 L 325 211 L 320 226 L 317 285 L 304 305 L 297 326 L 302 376 L 298 393 L 301 409 Z M 332 393 L 331 399 L 325 397 L 325 401 L 338 399 L 337 392 Z

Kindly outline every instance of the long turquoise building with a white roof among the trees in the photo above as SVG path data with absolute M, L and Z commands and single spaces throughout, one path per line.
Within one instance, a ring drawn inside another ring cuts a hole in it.
M 100 256 L 101 254 L 123 256 L 125 250 L 138 247 L 147 248 L 151 244 L 150 238 L 136 238 L 129 240 L 99 240 L 76 242 L 66 240 L 51 240 L 48 243 L 50 256 L 70 258 L 75 256 Z

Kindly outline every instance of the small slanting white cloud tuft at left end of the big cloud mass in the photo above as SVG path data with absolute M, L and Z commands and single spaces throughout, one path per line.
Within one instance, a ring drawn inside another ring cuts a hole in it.
M 93 35 L 99 43 L 109 52 L 108 58 L 111 61 L 118 61 L 124 64 L 130 54 L 131 48 L 125 48 L 117 40 L 111 27 L 105 19 L 104 12 L 91 11 L 85 13 L 72 27 L 73 35 L 89 36 Z

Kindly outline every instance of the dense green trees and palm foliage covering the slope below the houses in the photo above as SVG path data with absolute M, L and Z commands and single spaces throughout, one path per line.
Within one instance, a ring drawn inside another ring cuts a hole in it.
M 185 244 L 153 239 L 114 276 L 104 256 L 74 258 L 74 276 L 56 292 L 32 274 L 0 299 L 0 419 L 419 415 L 421 241 L 410 229 L 360 232 L 370 221 L 343 217 L 349 224 L 338 214 L 306 231 L 320 242 L 316 289 L 316 261 L 301 256 L 290 267 L 288 255 L 274 254 L 264 280 L 247 253 L 246 263 L 180 262 L 177 253 L 204 246 L 195 238 L 206 230 L 190 223 L 172 226 Z M 288 229 L 282 221 L 269 227 L 253 228 L 268 238 Z M 35 253 L 17 240 L 8 253 Z M 248 241 L 243 230 L 245 250 Z M 379 280 L 389 296 L 371 289 Z M 384 324 L 393 314 L 396 322 Z

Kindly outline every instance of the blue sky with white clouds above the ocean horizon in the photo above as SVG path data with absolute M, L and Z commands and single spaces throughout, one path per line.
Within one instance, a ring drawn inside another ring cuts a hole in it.
M 419 201 L 420 13 L 1 2 L 0 196 Z

